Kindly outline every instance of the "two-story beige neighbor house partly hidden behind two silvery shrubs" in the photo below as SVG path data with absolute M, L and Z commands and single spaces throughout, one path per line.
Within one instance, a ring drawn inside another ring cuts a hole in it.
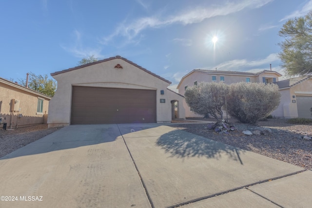
M 234 72 L 234 71 L 217 71 L 217 70 L 202 70 L 194 69 L 187 75 L 183 76 L 179 82 L 177 89 L 180 95 L 184 95 L 188 87 L 197 85 L 200 82 L 224 82 L 232 84 L 236 82 L 264 82 L 273 83 L 278 81 L 281 74 L 274 71 L 261 71 L 258 73 L 249 72 Z M 191 111 L 190 107 L 183 101 L 185 109 L 185 117 L 202 117 Z

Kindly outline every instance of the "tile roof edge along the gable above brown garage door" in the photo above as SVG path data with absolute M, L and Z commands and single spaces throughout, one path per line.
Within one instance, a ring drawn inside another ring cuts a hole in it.
M 84 65 L 81 65 L 81 66 L 76 66 L 76 67 L 73 67 L 73 68 L 69 68 L 69 69 L 65 69 L 65 70 L 62 70 L 62 71 L 54 72 L 54 73 L 51 73 L 51 76 L 59 75 L 59 74 L 66 73 L 66 72 L 71 72 L 73 70 L 81 69 L 81 68 L 84 68 L 84 67 L 87 67 L 87 66 L 95 65 L 95 64 L 98 64 L 98 63 L 102 63 L 102 62 L 106 62 L 106 61 L 110 61 L 110 60 L 114 60 L 114 59 L 122 59 L 122 60 L 126 61 L 127 63 L 129 63 L 129 64 L 131 64 L 131 65 L 133 65 L 133 66 L 135 66 L 135 67 L 137 67 L 137 68 L 139 68 L 141 70 L 143 70 L 144 72 L 146 72 L 146 73 L 148 73 L 150 75 L 153 75 L 153 76 L 155 76 L 155 77 L 157 77 L 157 78 L 159 78 L 159 79 L 161 79 L 161 80 L 171 84 L 171 81 L 169 81 L 169 80 L 167 80 L 167 79 L 165 79 L 165 78 L 163 78 L 161 76 L 158 76 L 158 75 L 154 74 L 153 72 L 148 71 L 147 69 L 145 69 L 145 68 L 137 65 L 136 63 L 128 60 L 127 58 L 124 58 L 124 57 L 121 57 L 121 56 L 109 57 L 109 58 L 105 58 L 103 60 L 95 61 L 95 62 L 92 62 L 92 63 L 87 63 L 87 64 L 84 64 Z

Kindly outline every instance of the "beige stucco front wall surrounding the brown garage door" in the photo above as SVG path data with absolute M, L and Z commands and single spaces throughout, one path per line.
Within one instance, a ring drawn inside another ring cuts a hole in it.
M 117 64 L 123 69 L 114 68 Z M 49 103 L 49 127 L 70 124 L 72 86 L 156 90 L 156 120 L 171 122 L 171 94 L 160 95 L 161 90 L 167 92 L 169 83 L 122 59 L 116 58 L 53 77 L 58 81 L 58 89 Z M 160 103 L 160 98 L 166 99 L 166 103 Z

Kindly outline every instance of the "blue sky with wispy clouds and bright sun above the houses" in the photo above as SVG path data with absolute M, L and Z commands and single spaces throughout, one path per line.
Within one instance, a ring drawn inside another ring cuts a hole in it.
M 312 0 L 0 0 L 0 77 L 50 76 L 92 55 L 125 57 L 173 90 L 193 69 L 283 74 L 278 32 L 310 10 Z

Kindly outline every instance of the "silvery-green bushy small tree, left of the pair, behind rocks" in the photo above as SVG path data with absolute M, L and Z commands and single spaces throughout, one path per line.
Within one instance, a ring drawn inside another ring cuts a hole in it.
M 195 113 L 204 116 L 211 114 L 217 120 L 221 120 L 227 90 L 228 85 L 223 82 L 201 82 L 198 86 L 186 89 L 184 97 Z

